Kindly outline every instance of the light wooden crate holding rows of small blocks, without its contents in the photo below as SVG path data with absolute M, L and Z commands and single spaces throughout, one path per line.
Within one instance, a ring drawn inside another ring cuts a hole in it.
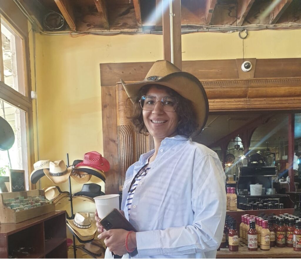
M 27 198 L 28 196 L 39 195 L 45 196 L 44 190 L 0 193 L 0 223 L 19 223 L 24 220 L 28 220 L 49 213 L 51 211 L 55 211 L 55 205 L 52 203 L 43 205 L 41 207 L 15 212 L 13 209 L 7 208 L 3 202 L 4 199 L 16 198 L 19 196 Z

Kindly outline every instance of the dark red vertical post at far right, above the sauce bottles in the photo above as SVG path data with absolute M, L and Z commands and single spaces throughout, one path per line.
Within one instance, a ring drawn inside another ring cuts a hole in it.
M 290 191 L 295 191 L 295 172 L 293 170 L 294 153 L 295 153 L 295 114 L 288 114 L 288 176 L 290 176 Z

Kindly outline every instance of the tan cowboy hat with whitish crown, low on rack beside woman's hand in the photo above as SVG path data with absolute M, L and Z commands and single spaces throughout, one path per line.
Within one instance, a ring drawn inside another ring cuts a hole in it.
M 67 219 L 67 226 L 80 240 L 92 240 L 97 230 L 94 217 L 95 213 L 77 212 L 74 220 Z

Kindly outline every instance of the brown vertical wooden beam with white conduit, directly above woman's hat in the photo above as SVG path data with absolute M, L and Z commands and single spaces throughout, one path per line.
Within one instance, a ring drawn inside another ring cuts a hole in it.
M 171 42 L 170 42 L 170 15 L 169 0 L 163 0 L 163 51 L 164 59 L 171 61 Z M 182 69 L 182 43 L 181 43 L 181 1 L 172 2 L 173 19 L 173 63 Z

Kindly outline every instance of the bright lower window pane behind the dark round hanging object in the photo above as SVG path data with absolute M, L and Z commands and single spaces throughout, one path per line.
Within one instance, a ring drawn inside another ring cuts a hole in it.
M 0 150 L 0 176 L 9 176 L 9 169 L 25 170 L 28 190 L 28 162 L 25 112 L 0 99 L 0 116 L 13 128 L 14 145 L 7 151 Z

